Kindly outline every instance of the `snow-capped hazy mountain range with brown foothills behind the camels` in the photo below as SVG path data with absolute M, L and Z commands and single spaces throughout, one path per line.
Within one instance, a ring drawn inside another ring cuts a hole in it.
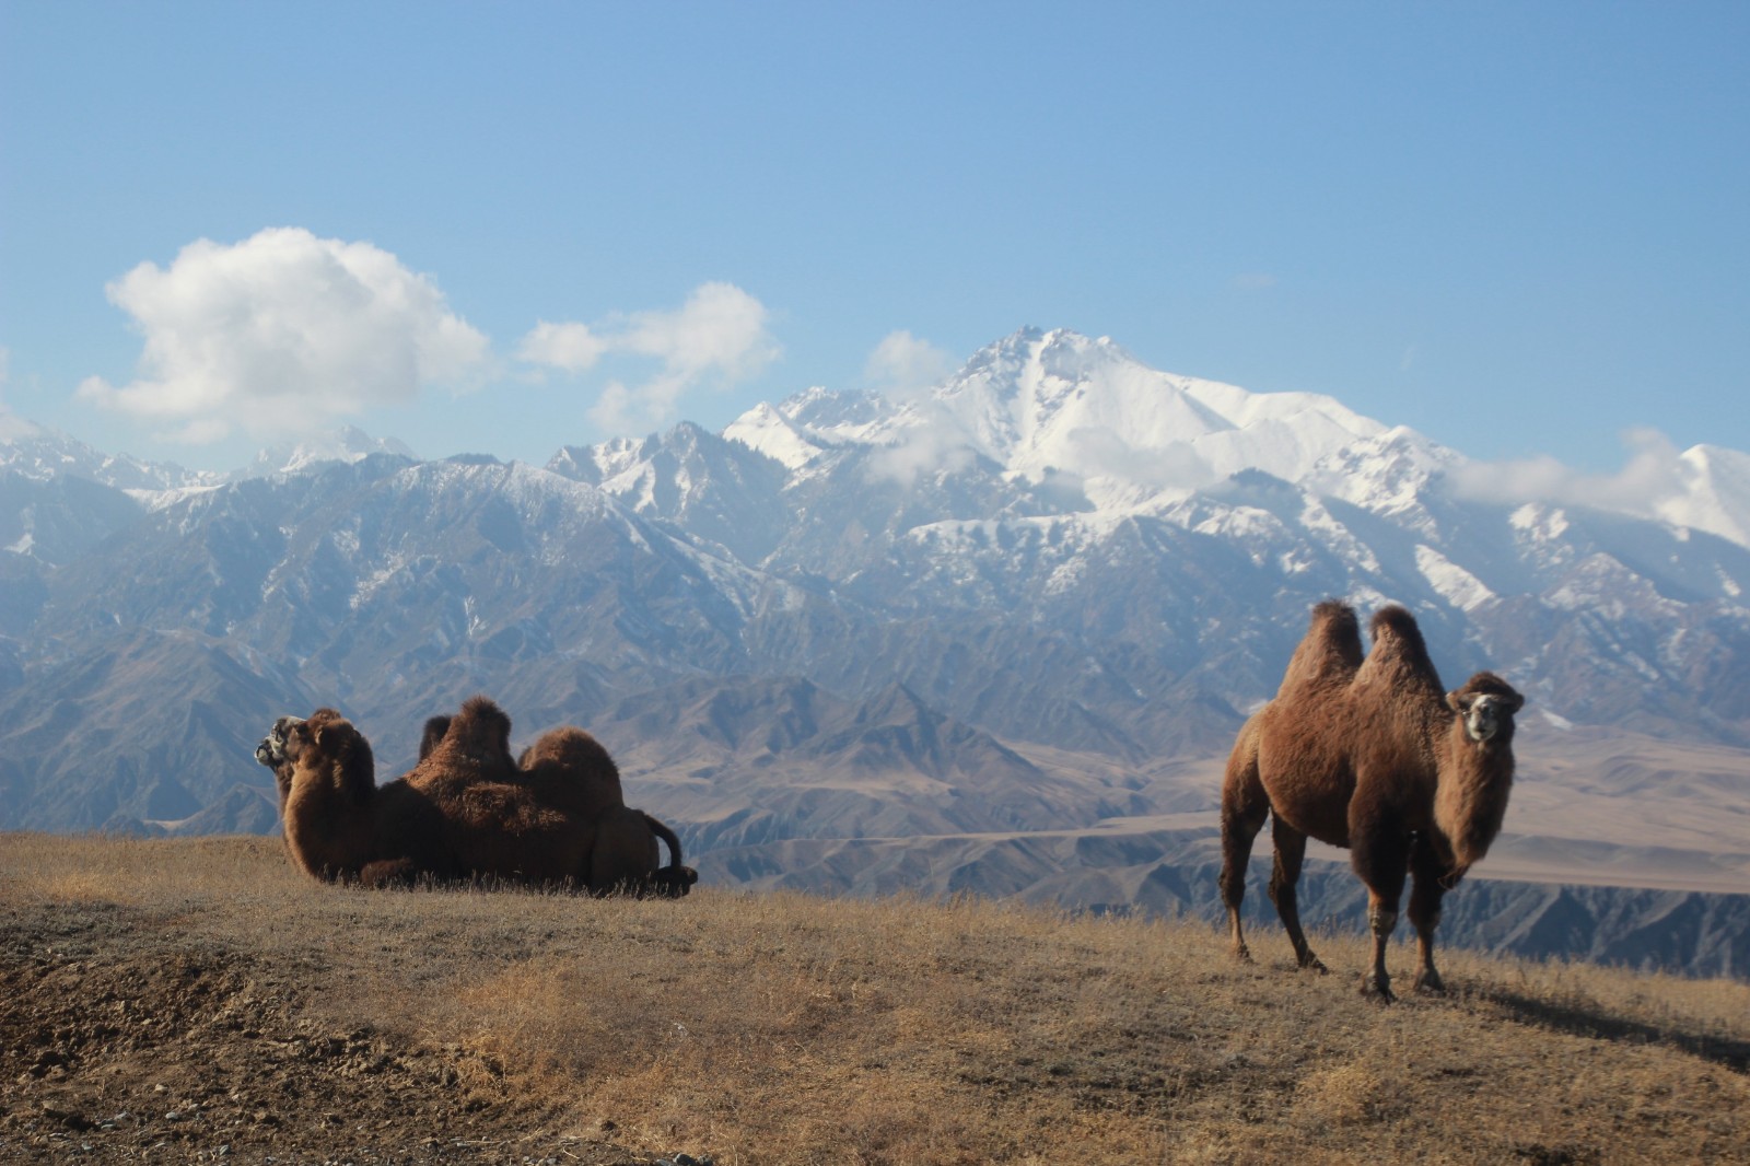
M 1335 399 L 1032 329 L 914 397 L 812 389 L 544 467 L 350 431 L 196 474 L 4 432 L 4 828 L 268 830 L 273 716 L 338 704 L 387 777 L 486 692 L 518 741 L 597 732 L 709 877 L 870 886 L 1034 837 L 1113 861 L 966 881 L 1150 903 L 1148 847 L 1208 837 L 1234 728 L 1344 595 L 1410 606 L 1449 685 L 1530 697 L 1480 875 L 1750 888 L 1736 450 L 1535 501 Z

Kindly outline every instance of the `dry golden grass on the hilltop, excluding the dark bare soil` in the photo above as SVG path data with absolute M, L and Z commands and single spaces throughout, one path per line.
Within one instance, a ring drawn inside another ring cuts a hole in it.
M 1381 1007 L 1334 935 L 1318 977 L 1281 935 L 1242 966 L 1202 924 L 978 900 L 371 893 L 261 839 L 0 835 L 0 905 L 247 954 L 481 1105 L 719 1166 L 1750 1161 L 1740 982 L 1449 951 L 1447 996 Z

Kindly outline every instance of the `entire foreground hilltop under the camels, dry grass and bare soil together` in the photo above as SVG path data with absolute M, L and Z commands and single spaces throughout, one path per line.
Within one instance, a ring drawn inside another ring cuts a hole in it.
M 1750 1162 L 1750 986 L 1314 944 L 0 835 L 0 1161 Z

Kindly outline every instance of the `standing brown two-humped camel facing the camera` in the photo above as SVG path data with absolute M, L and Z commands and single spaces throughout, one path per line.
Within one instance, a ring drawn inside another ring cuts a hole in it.
M 1374 651 L 1363 660 L 1354 611 L 1318 604 L 1276 699 L 1241 727 L 1222 786 L 1222 900 L 1234 954 L 1250 959 L 1239 907 L 1269 816 L 1270 900 L 1298 965 L 1323 970 L 1300 930 L 1295 888 L 1309 837 L 1349 847 L 1374 933 L 1362 989 L 1393 1000 L 1386 942 L 1410 877 L 1416 986 L 1444 987 L 1433 965 L 1440 902 L 1500 833 L 1524 697 L 1493 672 L 1446 693 L 1404 608 L 1382 608 L 1368 630 Z

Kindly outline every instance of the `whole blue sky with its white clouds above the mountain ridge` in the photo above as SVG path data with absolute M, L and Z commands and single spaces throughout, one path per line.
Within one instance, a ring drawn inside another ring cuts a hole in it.
M 1032 324 L 1479 459 L 1750 450 L 1746 51 L 1738 2 L 0 0 L 0 404 L 541 462 Z

